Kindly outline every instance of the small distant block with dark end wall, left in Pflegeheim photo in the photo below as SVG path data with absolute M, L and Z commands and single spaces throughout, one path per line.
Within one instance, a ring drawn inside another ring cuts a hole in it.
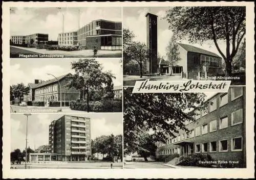
M 25 44 L 47 44 L 48 42 L 48 34 L 35 33 L 31 35 L 25 36 Z

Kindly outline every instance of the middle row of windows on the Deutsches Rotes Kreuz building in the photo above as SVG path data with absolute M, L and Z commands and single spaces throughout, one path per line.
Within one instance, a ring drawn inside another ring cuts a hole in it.
M 231 113 L 231 125 L 237 125 L 243 122 L 243 109 L 239 109 Z M 195 136 L 205 135 L 208 133 L 217 131 L 217 119 L 210 121 L 209 124 L 203 124 L 198 126 L 195 130 L 191 130 L 189 133 L 178 135 L 176 138 L 168 139 L 167 144 L 182 141 L 184 139 L 194 138 Z M 228 116 L 223 116 L 219 119 L 219 130 L 228 127 Z M 163 143 L 158 143 L 157 146 L 164 146 Z

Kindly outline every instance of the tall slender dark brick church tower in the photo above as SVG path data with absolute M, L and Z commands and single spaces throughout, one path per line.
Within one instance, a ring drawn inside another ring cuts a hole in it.
M 146 62 L 148 73 L 157 72 L 157 15 L 146 14 L 146 45 L 150 49 L 150 58 Z

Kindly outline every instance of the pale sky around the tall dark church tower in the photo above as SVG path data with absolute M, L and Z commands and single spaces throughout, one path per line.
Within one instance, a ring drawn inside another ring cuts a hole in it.
M 157 38 L 158 38 L 158 52 L 161 56 L 165 57 L 165 49 L 168 44 L 168 41 L 173 35 L 173 32 L 168 29 L 168 22 L 164 19 L 166 15 L 166 7 L 131 7 L 131 8 L 123 8 L 123 28 L 130 29 L 135 34 L 135 41 L 141 41 L 146 43 L 146 13 L 150 12 L 152 14 L 156 14 L 158 16 L 158 29 L 157 29 Z M 199 48 L 203 48 L 205 50 L 209 50 L 210 52 L 216 53 L 220 56 L 217 48 L 214 45 L 214 42 L 207 41 L 200 44 L 192 44 L 187 40 L 179 41 L 184 44 L 190 44 Z M 218 42 L 222 52 L 225 53 L 225 43 Z M 220 56 L 221 57 L 221 56 Z

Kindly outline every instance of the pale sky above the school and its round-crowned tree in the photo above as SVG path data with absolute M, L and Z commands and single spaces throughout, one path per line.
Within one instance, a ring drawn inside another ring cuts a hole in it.
M 10 61 L 10 85 L 24 83 L 33 83 L 34 80 L 50 80 L 52 76 L 47 75 L 51 73 L 55 76 L 61 76 L 74 71 L 71 69 L 71 62 L 76 59 L 12 59 Z M 119 59 L 97 59 L 103 66 L 103 71 L 111 70 L 116 79 L 113 80 L 114 86 L 122 85 L 122 68 L 119 64 Z

